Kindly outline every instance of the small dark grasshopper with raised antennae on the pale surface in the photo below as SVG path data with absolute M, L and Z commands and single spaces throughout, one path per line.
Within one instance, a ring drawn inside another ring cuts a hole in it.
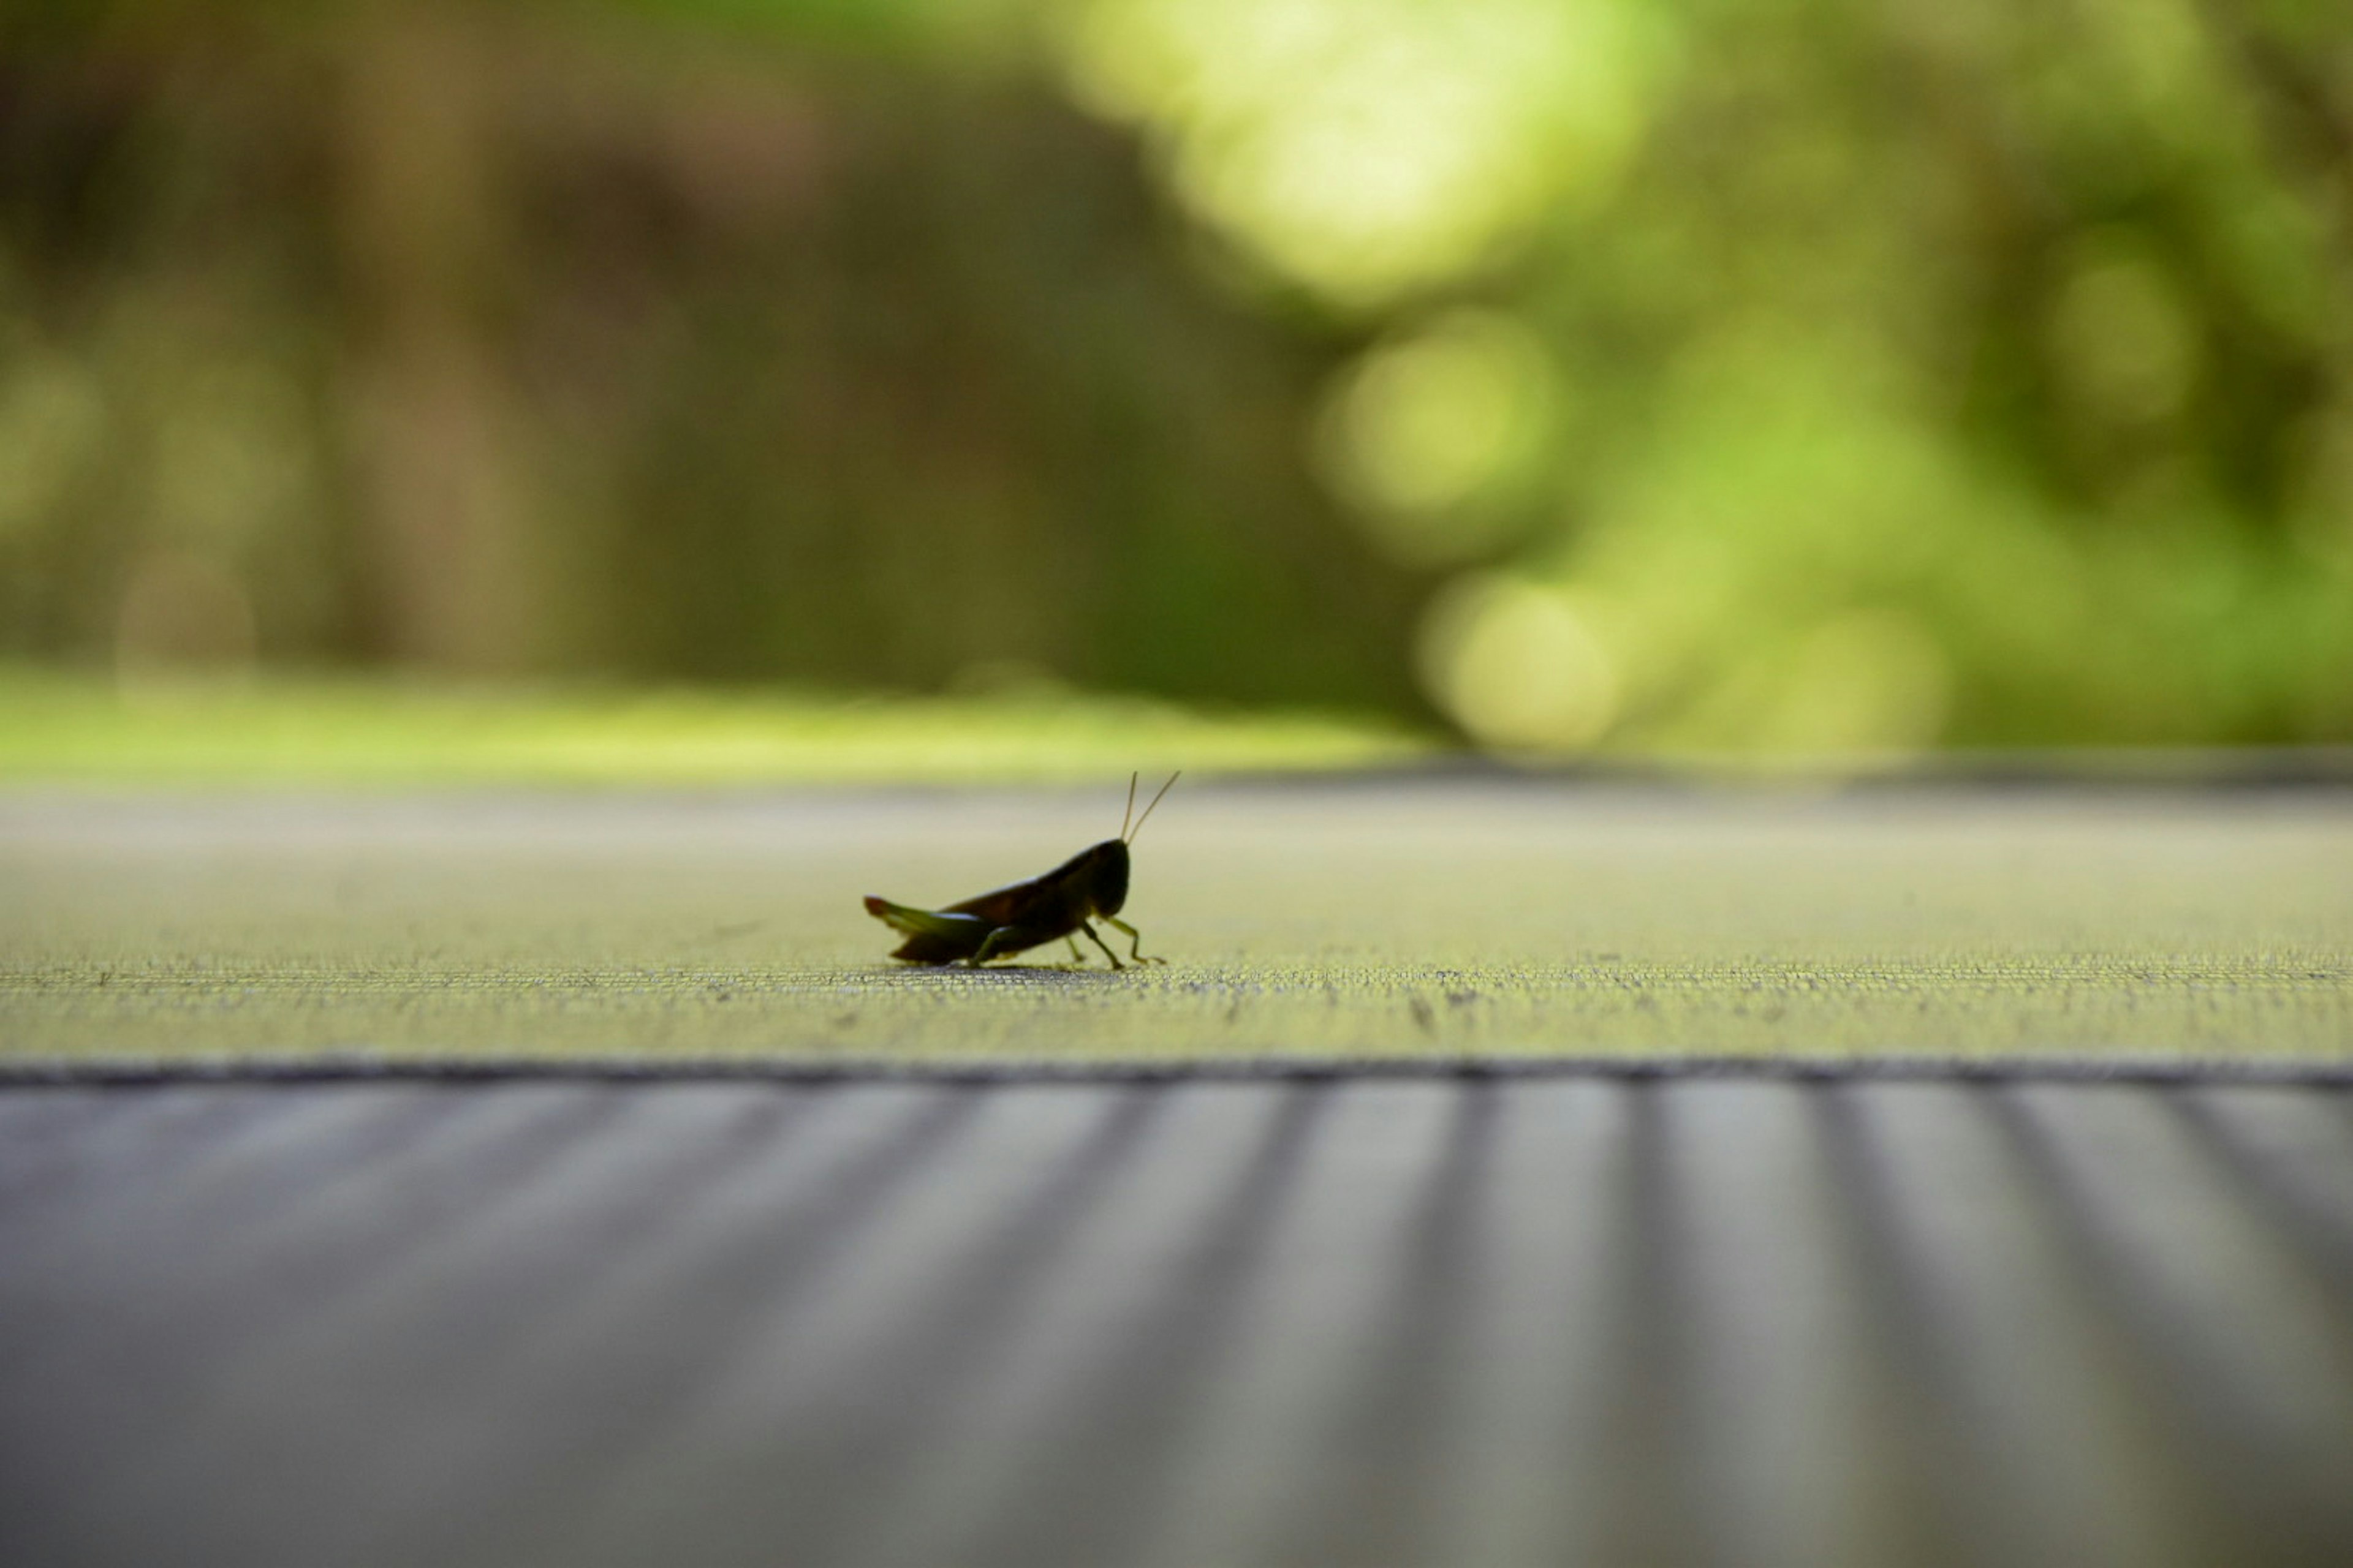
M 1085 931 L 1087 940 L 1104 950 L 1113 969 L 1127 969 L 1127 964 L 1120 964 L 1120 954 L 1087 924 L 1089 914 L 1127 933 L 1127 957 L 1136 964 L 1165 964 L 1167 959 L 1144 957 L 1144 936 L 1120 919 L 1120 907 L 1127 903 L 1127 846 L 1144 832 L 1144 820 L 1179 778 L 1184 778 L 1181 771 L 1169 773 L 1169 780 L 1160 785 L 1160 795 L 1153 795 L 1153 804 L 1144 806 L 1144 816 L 1129 827 L 1127 816 L 1136 809 L 1136 776 L 1129 773 L 1127 813 L 1120 816 L 1120 837 L 1078 851 L 1045 877 L 1031 877 L 995 893 L 979 893 L 976 898 L 951 903 L 946 910 L 911 910 L 904 903 L 868 893 L 866 912 L 906 938 L 892 957 L 908 964 L 953 964 L 962 959 L 979 969 L 988 959 L 1052 943 L 1056 936 L 1068 940 L 1071 957 L 1085 964 L 1087 954 L 1080 952 L 1075 936 Z

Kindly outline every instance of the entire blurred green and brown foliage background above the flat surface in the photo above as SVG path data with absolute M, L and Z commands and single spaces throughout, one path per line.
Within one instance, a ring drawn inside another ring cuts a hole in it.
M 2346 743 L 2348 306 L 2318 0 L 16 0 L 0 766 Z

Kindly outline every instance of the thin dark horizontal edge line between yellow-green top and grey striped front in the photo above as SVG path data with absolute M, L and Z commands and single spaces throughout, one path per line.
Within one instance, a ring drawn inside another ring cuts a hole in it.
M 1546 1056 L 1546 1058 L 1205 1058 L 1155 1060 L 991 1060 L 915 1063 L 744 1060 L 744 1058 L 360 1058 L 304 1060 L 12 1060 L 0 1063 L 0 1091 L 42 1086 L 160 1084 L 1153 1084 L 1153 1081 L 1304 1081 L 1304 1079 L 1772 1079 L 1772 1081 L 2052 1081 L 2052 1084 L 2280 1084 L 2353 1088 L 2353 1060 L 2217 1058 L 1962 1058 L 1962 1056 Z

